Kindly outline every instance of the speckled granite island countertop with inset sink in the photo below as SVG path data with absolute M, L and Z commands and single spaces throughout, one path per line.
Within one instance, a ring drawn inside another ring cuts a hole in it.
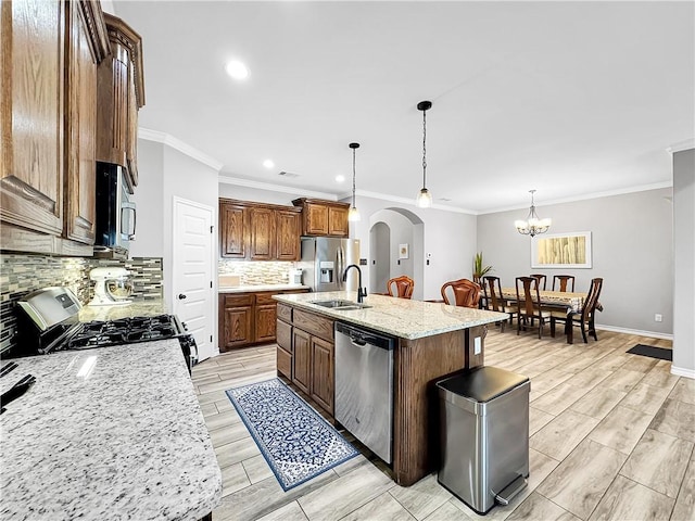
M 509 318 L 506 313 L 450 306 L 444 303 L 410 301 L 384 295 L 367 295 L 364 304 L 371 307 L 364 309 L 341 312 L 312 304 L 312 301 L 331 300 L 357 302 L 356 291 L 275 295 L 274 298 L 278 302 L 285 302 L 292 306 L 320 313 L 344 322 L 364 326 L 375 331 L 381 331 L 408 340 L 468 329 L 473 326 L 481 326 Z

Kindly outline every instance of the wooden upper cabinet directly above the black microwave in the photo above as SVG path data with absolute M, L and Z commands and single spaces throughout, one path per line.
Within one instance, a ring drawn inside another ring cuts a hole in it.
M 111 56 L 98 69 L 97 161 L 123 166 L 132 193 L 138 183 L 138 111 L 144 105 L 142 40 L 121 18 L 104 18 Z

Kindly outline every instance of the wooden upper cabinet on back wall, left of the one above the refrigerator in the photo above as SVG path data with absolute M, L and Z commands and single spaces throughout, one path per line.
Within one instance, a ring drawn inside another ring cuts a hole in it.
M 219 200 L 219 255 L 249 260 L 299 260 L 301 208 Z

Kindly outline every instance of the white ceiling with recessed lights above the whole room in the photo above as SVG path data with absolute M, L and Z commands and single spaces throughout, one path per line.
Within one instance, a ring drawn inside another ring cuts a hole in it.
M 143 39 L 140 126 L 222 176 L 343 196 L 357 141 L 357 193 L 414 199 L 431 100 L 434 203 L 484 213 L 670 186 L 695 136 L 692 1 L 113 5 Z

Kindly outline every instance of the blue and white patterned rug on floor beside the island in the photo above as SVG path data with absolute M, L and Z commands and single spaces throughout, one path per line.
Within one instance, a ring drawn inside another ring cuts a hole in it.
M 227 391 L 283 491 L 359 454 L 278 379 Z

